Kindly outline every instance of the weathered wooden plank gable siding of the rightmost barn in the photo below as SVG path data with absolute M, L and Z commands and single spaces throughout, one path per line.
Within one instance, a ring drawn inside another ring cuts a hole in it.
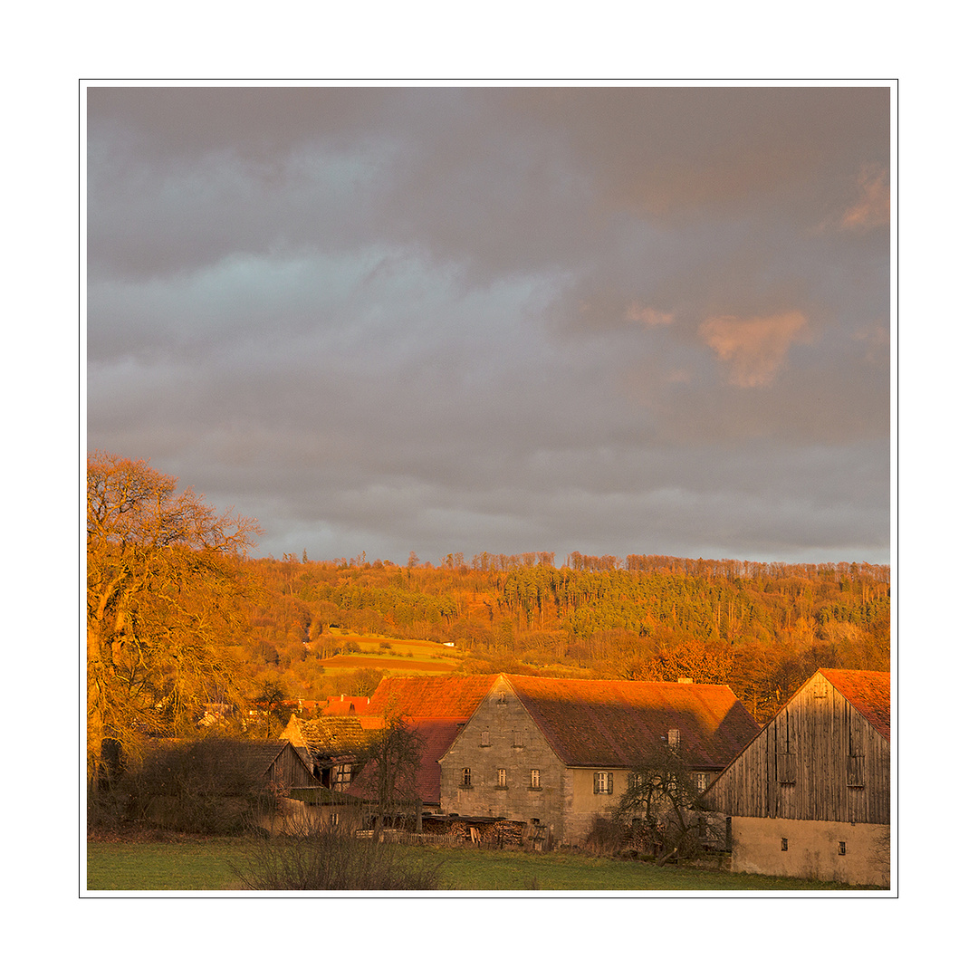
M 816 675 L 704 796 L 731 816 L 890 821 L 890 744 Z

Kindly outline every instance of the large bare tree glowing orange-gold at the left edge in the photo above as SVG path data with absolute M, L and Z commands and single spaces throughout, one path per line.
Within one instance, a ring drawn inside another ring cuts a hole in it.
M 103 744 L 185 733 L 204 702 L 241 698 L 232 648 L 241 558 L 260 532 L 147 463 L 88 459 L 88 768 Z

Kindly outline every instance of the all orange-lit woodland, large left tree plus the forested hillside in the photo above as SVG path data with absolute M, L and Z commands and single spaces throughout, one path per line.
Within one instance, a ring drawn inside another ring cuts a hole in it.
M 458 672 L 726 684 L 762 723 L 816 668 L 889 669 L 887 566 L 255 557 L 257 525 L 175 486 L 146 463 L 89 458 L 90 749 L 200 731 L 204 704 L 244 708 L 273 690 L 369 695 L 384 670 L 357 666 L 364 637 L 436 643 Z M 351 668 L 329 668 L 337 656 Z

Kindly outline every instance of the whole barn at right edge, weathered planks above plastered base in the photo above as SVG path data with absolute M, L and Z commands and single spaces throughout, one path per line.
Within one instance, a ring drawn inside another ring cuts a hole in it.
M 702 801 L 734 871 L 888 885 L 890 674 L 820 669 Z

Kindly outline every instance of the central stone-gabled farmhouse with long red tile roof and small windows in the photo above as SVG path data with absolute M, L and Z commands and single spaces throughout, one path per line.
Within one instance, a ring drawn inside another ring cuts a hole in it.
M 758 732 L 726 686 L 489 677 L 441 758 L 441 809 L 584 840 L 650 748 L 682 745 L 705 788 Z

